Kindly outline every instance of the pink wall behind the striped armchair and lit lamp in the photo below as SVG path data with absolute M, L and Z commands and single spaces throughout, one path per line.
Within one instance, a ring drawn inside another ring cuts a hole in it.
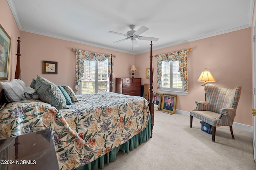
M 176 109 L 191 111 L 196 107 L 195 100 L 204 101 L 204 89 L 201 86 L 203 82 L 197 82 L 197 80 L 201 72 L 207 68 L 216 79 L 216 82 L 212 82 L 212 84 L 224 87 L 242 86 L 235 122 L 252 126 L 251 37 L 251 28 L 247 28 L 159 50 L 154 50 L 153 43 L 153 56 L 192 48 L 192 51 L 188 52 L 189 94 L 188 96 L 177 96 Z M 136 55 L 136 67 L 139 70 L 137 75 L 142 77 L 142 84 L 149 83 L 145 73 L 146 68 L 150 66 L 149 56 L 149 52 Z M 153 68 L 154 78 L 156 78 L 155 57 L 153 58 Z M 156 80 L 153 85 L 154 92 L 158 92 Z

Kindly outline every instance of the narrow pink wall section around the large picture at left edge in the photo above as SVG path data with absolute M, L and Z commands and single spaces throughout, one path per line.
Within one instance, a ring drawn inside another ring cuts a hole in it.
M 17 53 L 17 40 L 20 36 L 20 30 L 16 24 L 16 21 L 12 15 L 12 12 L 8 6 L 6 0 L 0 0 L 0 24 L 4 30 L 11 37 L 11 51 L 10 51 L 10 65 L 9 65 L 9 80 L 12 80 L 16 70 L 16 53 Z

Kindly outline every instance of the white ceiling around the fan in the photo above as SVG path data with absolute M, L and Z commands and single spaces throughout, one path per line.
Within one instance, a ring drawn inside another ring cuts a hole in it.
M 21 31 L 130 54 L 150 51 L 138 40 L 132 50 L 129 25 L 149 28 L 153 49 L 251 27 L 254 0 L 7 0 Z M 76 48 L 76 47 L 74 47 Z

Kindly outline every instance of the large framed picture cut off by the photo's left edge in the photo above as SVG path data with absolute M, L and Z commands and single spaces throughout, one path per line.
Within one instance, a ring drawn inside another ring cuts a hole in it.
M 11 38 L 0 25 L 0 80 L 7 80 L 9 75 Z

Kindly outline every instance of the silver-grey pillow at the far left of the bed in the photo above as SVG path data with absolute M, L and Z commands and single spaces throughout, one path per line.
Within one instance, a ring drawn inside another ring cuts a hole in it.
M 10 82 L 1 82 L 1 86 L 4 89 L 4 94 L 11 102 L 25 99 L 22 97 L 24 88 L 18 83 L 17 79 L 12 79 Z

